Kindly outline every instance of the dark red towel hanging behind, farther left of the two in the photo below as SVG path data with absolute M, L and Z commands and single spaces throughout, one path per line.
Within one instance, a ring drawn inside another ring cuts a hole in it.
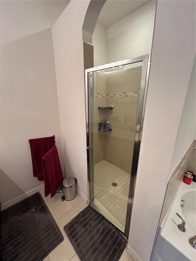
M 33 176 L 43 180 L 42 158 L 54 146 L 54 137 L 29 140 L 33 163 Z

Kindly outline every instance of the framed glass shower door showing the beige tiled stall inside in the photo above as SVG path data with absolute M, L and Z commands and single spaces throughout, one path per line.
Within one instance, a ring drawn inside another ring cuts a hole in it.
M 128 238 L 149 55 L 85 70 L 90 205 Z

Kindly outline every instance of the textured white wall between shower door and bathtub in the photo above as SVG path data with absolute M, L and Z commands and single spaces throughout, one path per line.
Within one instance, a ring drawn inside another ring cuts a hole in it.
M 194 56 L 195 2 L 158 1 L 128 240 L 143 261 L 153 247 Z

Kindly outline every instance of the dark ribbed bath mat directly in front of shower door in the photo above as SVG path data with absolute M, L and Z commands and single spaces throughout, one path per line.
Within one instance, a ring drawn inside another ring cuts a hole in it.
M 120 233 L 90 206 L 64 229 L 82 261 L 117 261 L 126 246 Z

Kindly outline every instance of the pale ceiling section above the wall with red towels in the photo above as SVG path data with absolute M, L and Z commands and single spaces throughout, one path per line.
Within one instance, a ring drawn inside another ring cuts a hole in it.
M 70 1 L 0 1 L 1 44 L 50 28 Z

